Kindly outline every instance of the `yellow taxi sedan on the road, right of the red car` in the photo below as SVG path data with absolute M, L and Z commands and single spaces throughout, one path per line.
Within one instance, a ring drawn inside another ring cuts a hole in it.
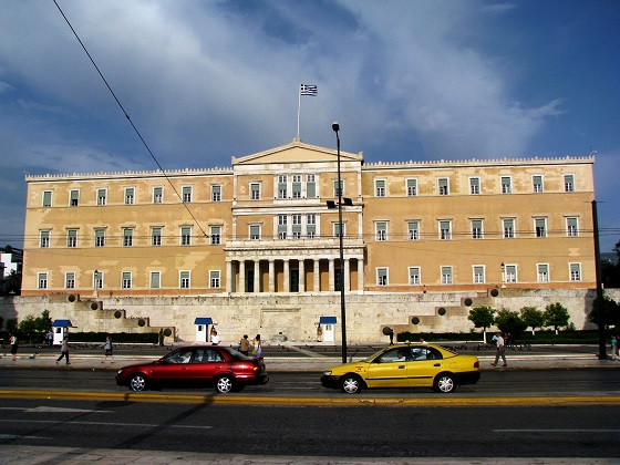
M 372 388 L 432 388 L 451 393 L 480 379 L 478 358 L 461 355 L 436 344 L 390 345 L 359 362 L 332 366 L 321 376 L 324 388 L 354 394 Z

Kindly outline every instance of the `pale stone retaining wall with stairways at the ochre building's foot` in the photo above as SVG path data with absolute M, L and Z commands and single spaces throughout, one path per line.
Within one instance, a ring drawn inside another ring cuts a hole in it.
M 620 289 L 606 290 L 620 299 Z M 587 321 L 596 290 L 489 289 L 488 292 L 350 293 L 345 297 L 349 343 L 385 341 L 383 328 L 395 333 L 463 332 L 473 330 L 467 319 L 474 307 L 489 306 L 518 311 L 523 307 L 545 310 L 559 302 L 577 329 L 596 328 Z M 267 343 L 317 341 L 321 317 L 335 317 L 334 342 L 341 340 L 340 293 L 205 297 L 106 297 L 48 294 L 0 298 L 0 316 L 7 321 L 39 317 L 49 310 L 52 320 L 69 319 L 73 332 L 144 333 L 168 330 L 166 343 L 196 340 L 197 317 L 213 319 L 224 342 L 236 343 L 242 334 L 260 333 Z M 414 324 L 416 322 L 416 324 Z M 476 332 L 479 329 L 476 329 Z

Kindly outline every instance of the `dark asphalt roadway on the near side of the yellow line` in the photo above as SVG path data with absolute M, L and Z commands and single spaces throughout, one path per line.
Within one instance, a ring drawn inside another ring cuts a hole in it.
M 296 456 L 306 463 L 313 463 L 309 456 L 493 457 L 495 463 L 620 456 L 617 405 L 403 409 L 10 399 L 0 414 L 0 447 L 18 450 L 247 454 L 287 456 L 288 463 Z

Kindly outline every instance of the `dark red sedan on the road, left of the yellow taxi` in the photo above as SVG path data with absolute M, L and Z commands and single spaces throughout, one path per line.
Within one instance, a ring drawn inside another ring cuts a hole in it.
M 135 392 L 215 386 L 217 392 L 226 393 L 268 381 L 262 359 L 252 359 L 219 345 L 175 349 L 155 362 L 124 366 L 116 373 L 116 384 Z

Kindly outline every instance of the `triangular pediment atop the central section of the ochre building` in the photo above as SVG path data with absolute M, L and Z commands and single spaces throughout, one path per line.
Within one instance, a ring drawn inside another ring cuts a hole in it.
M 232 157 L 232 166 L 236 165 L 262 165 L 271 163 L 326 163 L 337 162 L 338 151 L 335 148 L 319 147 L 317 145 L 304 144 L 294 138 L 290 144 L 270 148 L 240 158 Z M 352 154 L 340 151 L 342 162 L 363 162 L 363 152 Z

